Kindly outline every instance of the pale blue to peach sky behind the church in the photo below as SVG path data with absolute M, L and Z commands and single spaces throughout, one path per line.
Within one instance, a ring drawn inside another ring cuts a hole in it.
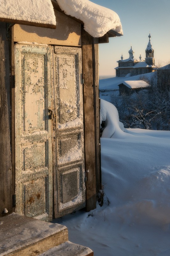
M 134 57 L 145 58 L 148 35 L 154 49 L 155 64 L 170 62 L 170 0 L 91 0 L 95 4 L 115 11 L 121 20 L 122 37 L 109 38 L 108 44 L 100 44 L 100 75 L 115 75 L 117 60 L 123 54 L 129 57 L 132 45 Z

